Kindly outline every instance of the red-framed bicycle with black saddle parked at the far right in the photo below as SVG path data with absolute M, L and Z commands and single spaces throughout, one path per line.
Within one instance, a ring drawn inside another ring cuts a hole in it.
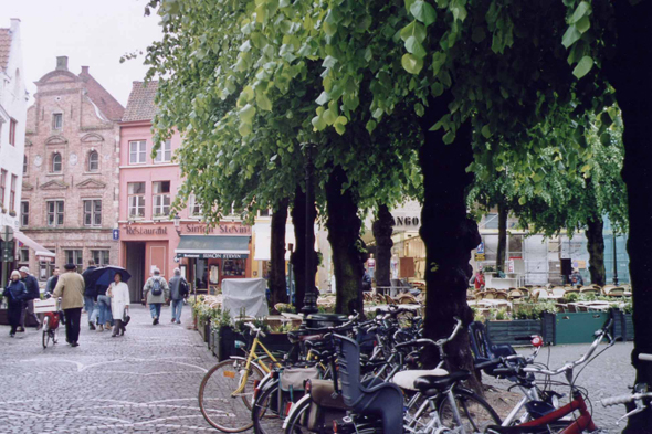
M 574 370 L 576 367 L 593 359 L 592 356 L 596 349 L 604 338 L 608 339 L 609 343 L 600 353 L 613 346 L 616 340 L 609 331 L 611 322 L 609 320 L 604 327 L 595 332 L 596 339 L 585 356 L 579 360 L 566 363 L 557 370 L 532 366 L 530 358 L 518 354 L 477 364 L 477 368 L 492 368 L 493 375 L 508 378 L 516 382 L 525 395 L 509 415 L 505 417 L 502 426 L 490 426 L 486 433 L 579 434 L 596 431 L 597 426 L 587 406 L 587 393 L 575 385 L 577 377 L 574 375 Z M 571 401 L 564 406 L 559 406 L 561 395 L 551 390 L 539 390 L 535 374 L 545 375 L 546 383 L 549 385 L 550 377 L 562 373 L 566 377 L 567 385 L 570 385 Z M 519 414 L 522 415 L 518 417 Z

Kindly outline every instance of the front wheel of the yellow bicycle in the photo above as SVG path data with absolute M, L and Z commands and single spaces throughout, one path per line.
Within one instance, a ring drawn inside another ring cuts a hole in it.
M 199 387 L 199 407 L 208 423 L 225 433 L 240 433 L 252 427 L 253 383 L 263 378 L 261 369 L 250 364 L 244 389 L 233 394 L 244 375 L 244 360 L 224 360 L 211 368 Z

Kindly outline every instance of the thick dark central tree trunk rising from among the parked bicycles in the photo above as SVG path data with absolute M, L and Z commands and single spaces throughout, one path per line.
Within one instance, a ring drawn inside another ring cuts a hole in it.
M 430 130 L 448 113 L 446 99 L 443 95 L 431 102 L 421 124 L 424 142 L 419 150 L 419 163 L 423 173 L 423 208 L 419 234 L 425 244 L 428 288 L 423 329 L 430 339 L 448 337 L 455 325 L 454 317 L 462 319 L 464 327 L 445 350 L 451 370 L 473 372 L 466 328 L 473 321 L 473 314 L 466 303 L 466 290 L 472 275 L 471 251 L 481 237 L 477 224 L 466 215 L 466 189 L 473 181 L 473 174 L 466 172 L 473 161 L 472 130 L 470 121 L 463 124 L 451 145 L 442 141 L 442 129 Z M 430 360 L 437 362 L 438 354 Z M 479 383 L 473 387 L 479 389 Z

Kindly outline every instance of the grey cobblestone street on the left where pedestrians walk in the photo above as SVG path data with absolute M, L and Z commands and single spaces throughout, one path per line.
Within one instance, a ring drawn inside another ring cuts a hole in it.
M 9 337 L 0 327 L 0 433 L 193 433 L 212 427 L 199 411 L 199 384 L 217 359 L 197 331 L 161 324 L 132 308 L 124 337 L 88 330 L 82 315 L 80 347 L 43 349 L 41 331 Z

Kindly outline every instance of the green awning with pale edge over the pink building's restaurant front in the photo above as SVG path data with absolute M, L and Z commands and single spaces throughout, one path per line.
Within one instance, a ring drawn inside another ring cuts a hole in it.
M 181 235 L 177 257 L 244 260 L 249 257 L 249 236 Z

